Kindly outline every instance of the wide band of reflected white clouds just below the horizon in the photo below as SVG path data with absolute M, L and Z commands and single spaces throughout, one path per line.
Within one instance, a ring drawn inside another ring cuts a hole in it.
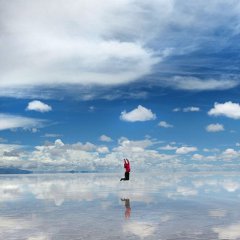
M 29 193 L 39 200 L 53 201 L 56 206 L 65 200 L 93 201 L 107 199 L 111 194 L 118 198 L 151 203 L 157 199 L 152 193 L 161 192 L 162 197 L 177 199 L 197 197 L 201 194 L 239 194 L 237 175 L 214 174 L 136 174 L 130 182 L 121 183 L 116 174 L 55 174 L 2 176 L 0 202 L 20 200 Z

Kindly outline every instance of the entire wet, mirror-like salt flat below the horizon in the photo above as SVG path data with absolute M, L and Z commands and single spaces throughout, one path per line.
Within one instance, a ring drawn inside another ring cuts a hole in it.
M 240 239 L 238 173 L 0 176 L 0 239 Z

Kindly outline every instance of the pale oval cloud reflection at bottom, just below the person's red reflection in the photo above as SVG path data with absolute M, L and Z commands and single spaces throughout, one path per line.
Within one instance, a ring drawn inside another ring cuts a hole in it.
M 134 234 L 143 239 L 152 236 L 155 232 L 155 227 L 147 222 L 134 221 L 123 225 L 123 232 Z

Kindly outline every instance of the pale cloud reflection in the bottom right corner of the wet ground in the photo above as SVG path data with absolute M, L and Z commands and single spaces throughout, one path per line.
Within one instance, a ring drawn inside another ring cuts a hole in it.
M 239 239 L 240 238 L 240 223 L 232 224 L 225 227 L 213 228 L 213 231 L 218 234 L 218 239 Z

